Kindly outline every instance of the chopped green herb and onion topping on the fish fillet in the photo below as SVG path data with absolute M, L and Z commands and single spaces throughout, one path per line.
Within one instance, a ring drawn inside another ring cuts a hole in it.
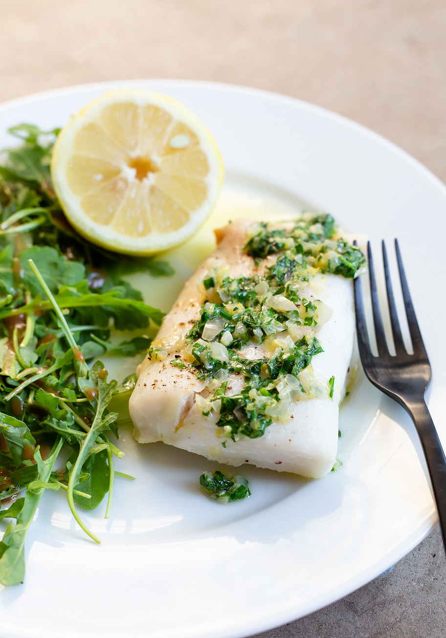
M 203 280 L 207 300 L 187 333 L 189 356 L 183 364 L 212 382 L 211 389 L 220 382 L 202 412 L 219 413 L 217 427 L 233 441 L 263 436 L 273 419 L 289 419 L 298 399 L 333 399 L 334 376 L 320 387 L 311 367 L 312 358 L 323 352 L 317 330 L 331 310 L 319 299 L 305 299 L 304 292 L 317 273 L 354 278 L 366 263 L 359 248 L 335 235 L 328 214 L 305 214 L 289 228 L 259 223 L 248 233 L 244 250 L 256 262 L 277 258 L 252 276 L 232 278 L 224 268 L 210 269 Z M 262 344 L 256 358 L 245 355 L 246 346 Z M 182 367 L 181 361 L 171 363 Z M 225 380 L 231 374 L 243 375 L 245 382 L 233 394 Z

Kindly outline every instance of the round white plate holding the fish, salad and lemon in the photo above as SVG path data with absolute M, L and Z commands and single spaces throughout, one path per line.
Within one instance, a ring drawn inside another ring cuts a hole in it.
M 8 126 L 61 126 L 104 90 L 122 86 L 168 93 L 208 124 L 227 170 L 221 217 L 234 198 L 254 216 L 265 207 L 285 214 L 303 202 L 332 212 L 375 246 L 398 235 L 433 366 L 429 408 L 445 443 L 445 187 L 343 117 L 198 82 L 113 82 L 16 100 L 0 107 L 0 147 L 11 144 Z M 204 251 L 203 242 L 194 246 L 189 271 Z M 176 263 L 182 259 L 178 251 Z M 169 286 L 174 291 L 178 278 Z M 25 582 L 0 591 L 0 634 L 240 638 L 370 581 L 429 533 L 435 508 L 412 424 L 362 374 L 340 429 L 342 470 L 310 481 L 245 466 L 253 496 L 227 507 L 198 491 L 199 474 L 215 464 L 161 443 L 138 447 L 124 432 L 119 469 L 138 480 L 117 482 L 109 521 L 103 507 L 83 512 L 103 544 L 83 536 L 62 494 L 45 495 L 27 538 Z

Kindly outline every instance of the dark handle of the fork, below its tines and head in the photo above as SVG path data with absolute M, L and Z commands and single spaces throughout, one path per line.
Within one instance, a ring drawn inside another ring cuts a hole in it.
M 412 401 L 405 408 L 414 421 L 421 441 L 446 547 L 446 457 L 424 398 L 416 403 Z

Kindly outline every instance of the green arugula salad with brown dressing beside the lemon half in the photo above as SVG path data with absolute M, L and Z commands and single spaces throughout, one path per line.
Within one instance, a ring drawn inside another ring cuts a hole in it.
M 103 355 L 147 350 L 163 313 L 143 302 L 124 277 L 169 276 L 169 263 L 116 255 L 69 226 L 50 179 L 59 130 L 22 124 L 22 143 L 0 164 L 0 582 L 22 582 L 24 542 L 40 499 L 66 492 L 77 523 L 108 494 L 123 453 L 119 414 L 136 375 L 109 380 Z M 119 332 L 135 330 L 129 339 Z M 115 442 L 113 442 L 115 441 Z M 47 496 L 45 494 L 45 496 Z

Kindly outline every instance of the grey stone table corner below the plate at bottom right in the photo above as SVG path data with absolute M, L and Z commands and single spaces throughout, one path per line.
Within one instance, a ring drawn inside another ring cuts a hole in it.
M 445 592 L 446 558 L 436 528 L 390 574 L 255 638 L 443 638 Z

